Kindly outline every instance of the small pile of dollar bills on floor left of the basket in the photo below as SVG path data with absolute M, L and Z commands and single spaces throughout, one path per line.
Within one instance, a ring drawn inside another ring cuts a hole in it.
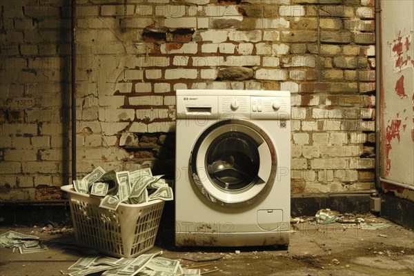
M 39 237 L 24 235 L 12 230 L 0 235 L 0 247 L 13 248 L 23 253 L 37 253 L 48 250 L 48 247 L 41 244 Z

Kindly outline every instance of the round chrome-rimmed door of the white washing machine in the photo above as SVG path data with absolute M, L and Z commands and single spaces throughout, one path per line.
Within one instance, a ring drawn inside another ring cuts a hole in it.
M 226 119 L 208 127 L 190 158 L 195 186 L 219 206 L 239 208 L 259 201 L 276 177 L 275 147 L 250 121 Z

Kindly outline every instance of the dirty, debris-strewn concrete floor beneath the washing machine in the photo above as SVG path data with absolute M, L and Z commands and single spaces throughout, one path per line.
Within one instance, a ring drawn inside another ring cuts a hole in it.
M 306 219 L 306 218 L 305 218 Z M 202 275 L 414 275 L 414 232 L 379 217 L 365 220 L 386 223 L 388 228 L 362 230 L 358 224 L 316 224 L 305 220 L 292 224 L 288 248 L 176 248 L 164 230 L 147 253 L 163 250 L 163 257 L 181 259 L 181 266 L 199 266 Z M 13 253 L 0 248 L 0 275 L 63 275 L 68 267 L 90 251 L 75 244 L 73 231 L 52 235 L 40 228 L 0 227 L 40 237 L 43 253 Z M 171 237 L 171 236 L 170 236 Z M 236 253 L 239 250 L 240 253 Z M 193 262 L 190 259 L 210 259 Z M 217 270 L 218 269 L 218 270 Z M 213 270 L 217 270 L 212 272 Z

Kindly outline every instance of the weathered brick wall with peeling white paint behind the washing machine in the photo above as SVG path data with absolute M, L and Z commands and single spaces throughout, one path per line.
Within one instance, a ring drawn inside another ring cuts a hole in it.
M 59 197 L 50 190 L 70 177 L 70 6 L 0 5 L 1 199 Z M 173 174 L 179 88 L 290 90 L 292 192 L 374 187 L 373 1 L 77 5 L 77 177 L 96 166 Z

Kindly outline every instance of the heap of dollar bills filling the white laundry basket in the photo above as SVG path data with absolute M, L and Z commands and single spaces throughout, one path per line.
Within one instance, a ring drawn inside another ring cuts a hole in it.
M 117 210 L 119 204 L 141 204 L 154 199 L 172 200 L 172 180 L 161 179 L 164 175 L 152 175 L 149 168 L 133 172 L 106 172 L 95 168 L 81 180 L 74 180 L 78 193 L 103 197 L 99 207 Z

